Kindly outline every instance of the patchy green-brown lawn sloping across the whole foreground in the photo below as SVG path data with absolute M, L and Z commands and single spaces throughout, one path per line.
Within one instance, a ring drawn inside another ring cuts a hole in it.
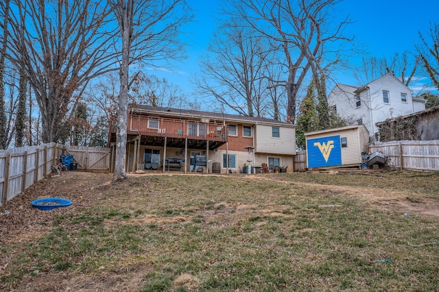
M 439 175 L 424 175 L 88 183 L 70 199 L 90 204 L 40 211 L 38 236 L 1 244 L 0 290 L 436 291 Z

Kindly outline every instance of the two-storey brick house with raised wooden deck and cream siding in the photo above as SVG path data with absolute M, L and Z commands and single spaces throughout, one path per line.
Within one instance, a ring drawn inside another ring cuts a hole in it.
M 295 126 L 234 114 L 136 106 L 128 111 L 127 172 L 139 169 L 203 173 L 259 172 L 266 163 L 292 172 Z M 116 126 L 109 143 L 115 155 Z M 198 166 L 195 158 L 205 159 Z M 228 159 L 227 159 L 228 158 Z M 179 164 L 180 163 L 180 164 Z M 247 170 L 246 170 L 247 169 Z

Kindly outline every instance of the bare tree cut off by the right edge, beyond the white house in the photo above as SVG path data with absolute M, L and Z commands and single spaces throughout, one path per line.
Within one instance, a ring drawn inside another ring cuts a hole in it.
M 431 23 L 427 38 L 419 32 L 420 45 L 416 51 L 431 82 L 439 89 L 439 23 Z

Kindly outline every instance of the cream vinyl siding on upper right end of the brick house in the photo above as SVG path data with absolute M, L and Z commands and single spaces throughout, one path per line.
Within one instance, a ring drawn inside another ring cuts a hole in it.
M 259 153 L 296 154 L 296 132 L 293 127 L 279 126 L 280 138 L 272 137 L 272 125 L 257 125 L 255 127 L 256 149 Z

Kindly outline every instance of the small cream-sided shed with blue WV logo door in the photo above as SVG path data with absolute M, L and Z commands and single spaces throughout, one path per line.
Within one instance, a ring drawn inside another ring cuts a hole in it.
M 305 134 L 307 166 L 360 167 L 361 152 L 366 151 L 369 132 L 364 125 L 352 125 Z

